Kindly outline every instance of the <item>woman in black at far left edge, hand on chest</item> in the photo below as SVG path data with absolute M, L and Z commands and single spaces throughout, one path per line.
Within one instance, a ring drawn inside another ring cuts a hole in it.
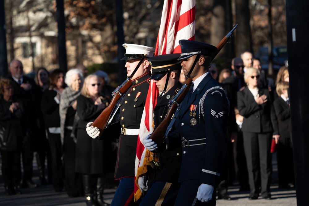
M 0 80 L 0 153 L 5 195 L 21 194 L 20 153 L 29 136 L 27 118 L 21 101 L 13 99 L 13 82 Z

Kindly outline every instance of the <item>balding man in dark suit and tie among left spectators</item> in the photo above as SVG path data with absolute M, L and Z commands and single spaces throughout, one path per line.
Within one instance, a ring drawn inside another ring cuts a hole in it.
M 15 96 L 21 98 L 25 108 L 29 114 L 29 123 L 32 136 L 25 142 L 23 147 L 23 187 L 36 187 L 32 181 L 32 159 L 33 159 L 33 144 L 36 131 L 38 130 L 38 108 L 37 87 L 33 79 L 23 76 L 23 64 L 19 60 L 12 60 L 10 63 L 9 79 L 14 83 Z

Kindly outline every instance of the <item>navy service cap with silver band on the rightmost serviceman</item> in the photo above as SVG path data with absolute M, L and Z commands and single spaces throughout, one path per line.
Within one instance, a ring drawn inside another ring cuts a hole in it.
M 217 51 L 217 47 L 198 41 L 179 40 L 181 55 L 178 60 L 187 59 L 196 54 L 211 57 Z

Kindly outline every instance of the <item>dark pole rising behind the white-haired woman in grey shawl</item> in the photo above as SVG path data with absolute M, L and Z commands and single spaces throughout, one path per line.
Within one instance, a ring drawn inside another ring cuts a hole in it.
M 66 61 L 66 19 L 64 18 L 63 0 L 56 0 L 57 4 L 57 23 L 58 23 L 58 48 L 59 48 L 59 68 L 67 69 Z

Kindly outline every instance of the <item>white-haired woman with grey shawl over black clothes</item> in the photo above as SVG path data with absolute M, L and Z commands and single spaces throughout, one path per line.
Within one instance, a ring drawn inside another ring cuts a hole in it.
M 81 195 L 83 191 L 81 177 L 75 174 L 75 142 L 71 137 L 75 116 L 77 97 L 81 94 L 83 74 L 79 69 L 71 69 L 66 73 L 65 83 L 68 85 L 61 94 L 59 104 L 60 135 L 64 153 L 64 170 L 66 193 L 70 197 Z M 75 120 L 76 121 L 76 120 Z

